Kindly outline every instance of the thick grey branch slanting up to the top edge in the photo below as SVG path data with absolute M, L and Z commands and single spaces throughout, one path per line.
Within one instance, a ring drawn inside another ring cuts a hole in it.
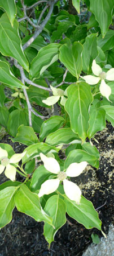
M 32 38 L 30 38 L 28 40 L 27 43 L 24 44 L 23 46 L 23 50 L 25 50 L 27 47 L 30 46 L 30 44 L 32 44 L 32 42 L 37 38 L 38 35 L 40 35 L 40 33 L 42 32 L 43 28 L 45 27 L 46 23 L 48 22 L 48 20 L 50 19 L 50 16 L 52 14 L 52 11 L 53 11 L 53 8 L 54 8 L 54 3 L 56 2 L 57 0 L 52 0 L 50 1 L 50 9 L 49 9 L 49 13 L 47 14 L 46 18 L 43 20 L 40 28 L 38 28 L 35 32 L 34 32 L 34 35 L 32 36 Z

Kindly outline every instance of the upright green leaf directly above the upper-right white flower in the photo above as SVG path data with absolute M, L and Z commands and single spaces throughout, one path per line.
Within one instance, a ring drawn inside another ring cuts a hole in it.
M 98 55 L 97 35 L 91 34 L 86 37 L 84 49 L 82 51 L 82 71 L 91 73 L 91 65 Z

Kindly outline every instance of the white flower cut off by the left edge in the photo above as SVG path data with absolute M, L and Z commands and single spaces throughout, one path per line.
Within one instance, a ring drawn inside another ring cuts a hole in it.
M 6 150 L 0 147 L 0 174 L 5 170 L 5 175 L 8 179 L 15 181 L 16 168 L 12 164 L 18 163 L 23 156 L 26 154 L 26 151 L 21 154 L 14 154 L 8 159 L 8 153 Z

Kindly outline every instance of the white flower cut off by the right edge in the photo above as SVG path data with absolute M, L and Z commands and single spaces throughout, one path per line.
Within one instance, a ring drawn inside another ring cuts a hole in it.
M 109 71 L 107 73 L 103 72 L 102 68 L 100 68 L 100 66 L 96 63 L 96 61 L 93 60 L 91 69 L 95 76 L 88 75 L 88 76 L 84 76 L 83 79 L 87 82 L 87 84 L 90 84 L 90 85 L 98 84 L 98 82 L 100 80 L 102 80 L 100 83 L 99 90 L 100 90 L 100 93 L 104 97 L 106 97 L 107 100 L 109 101 L 109 95 L 111 94 L 111 88 L 106 84 L 106 82 L 104 80 L 105 79 L 109 80 L 109 81 L 114 80 L 114 68 L 109 69 Z

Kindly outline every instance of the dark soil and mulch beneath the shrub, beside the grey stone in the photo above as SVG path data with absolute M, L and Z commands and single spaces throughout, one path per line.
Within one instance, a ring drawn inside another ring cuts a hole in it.
M 23 145 L 19 143 L 13 145 L 8 137 L 5 135 L 1 143 L 11 144 L 15 152 L 24 150 Z M 93 141 L 100 152 L 100 167 L 96 170 L 87 166 L 85 172 L 76 179 L 76 183 L 80 185 L 82 195 L 92 201 L 95 209 L 99 208 L 102 229 L 107 234 L 108 226 L 113 222 L 113 127 L 107 124 L 107 128 L 98 133 L 95 138 L 99 142 L 97 144 Z M 6 177 L 1 175 L 0 183 L 5 181 Z M 87 230 L 67 216 L 66 224 L 56 233 L 55 242 L 51 243 L 49 250 L 48 243 L 43 237 L 43 222 L 36 222 L 15 209 L 12 221 L 0 232 L 0 256 L 81 256 L 92 242 L 92 233 L 102 236 L 97 229 Z

